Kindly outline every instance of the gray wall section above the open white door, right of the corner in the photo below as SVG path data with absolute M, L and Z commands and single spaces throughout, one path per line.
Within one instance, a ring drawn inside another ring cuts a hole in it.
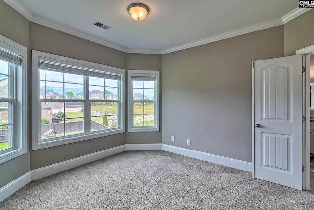
M 300 15 L 284 25 L 284 55 L 295 55 L 295 51 L 314 44 L 314 9 Z

